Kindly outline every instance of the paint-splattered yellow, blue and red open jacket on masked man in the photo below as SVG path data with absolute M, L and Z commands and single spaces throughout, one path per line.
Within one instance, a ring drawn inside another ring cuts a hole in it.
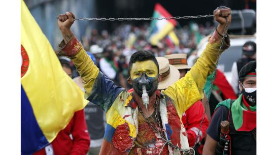
M 220 37 L 214 32 L 205 52 L 186 76 L 161 92 L 160 115 L 165 135 L 182 149 L 187 149 L 189 144 L 180 118 L 193 103 L 203 97 L 206 78 L 215 67 L 219 42 Z M 228 48 L 229 43 L 229 39 L 224 42 L 223 49 Z M 134 147 L 138 132 L 138 107 L 132 94 L 106 78 L 75 37 L 67 44 L 62 42 L 61 46 L 64 51 L 77 53 L 71 60 L 84 80 L 85 98 L 106 112 L 107 125 L 100 155 L 127 155 Z M 169 151 L 171 155 L 180 155 L 171 147 Z

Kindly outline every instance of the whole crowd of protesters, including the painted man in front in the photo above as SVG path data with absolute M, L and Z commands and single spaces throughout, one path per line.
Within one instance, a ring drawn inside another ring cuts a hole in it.
M 73 14 L 60 15 L 60 62 L 90 102 L 37 155 L 182 155 L 191 148 L 197 155 L 256 154 L 256 44 L 243 46 L 232 70 L 238 85 L 230 84 L 214 64 L 224 17 L 231 23 L 229 8 L 214 11 L 215 31 L 197 24 L 176 30 L 180 44 L 170 47 L 165 40 L 151 46 L 146 25 L 93 30 L 81 44 L 70 31 Z M 205 52 L 188 65 L 209 33 Z M 226 37 L 222 50 L 229 46 Z

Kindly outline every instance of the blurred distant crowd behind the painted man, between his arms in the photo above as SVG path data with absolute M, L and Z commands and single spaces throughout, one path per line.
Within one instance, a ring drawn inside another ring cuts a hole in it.
M 196 49 L 199 41 L 214 30 L 207 22 L 205 25 L 190 23 L 183 28 L 175 29 L 179 39 L 179 45 L 169 46 L 166 39 L 160 40 L 160 44 L 149 43 L 149 25 L 140 27 L 122 24 L 113 32 L 91 30 L 90 35 L 81 38 L 82 45 L 91 56 L 101 71 L 115 84 L 126 89 L 131 87 L 126 83 L 129 77 L 127 68 L 132 54 L 139 50 L 150 50 L 156 57 L 174 53 L 184 53 L 188 56 Z M 73 66 L 74 67 L 74 66 Z M 72 77 L 77 77 L 78 72 L 73 68 Z

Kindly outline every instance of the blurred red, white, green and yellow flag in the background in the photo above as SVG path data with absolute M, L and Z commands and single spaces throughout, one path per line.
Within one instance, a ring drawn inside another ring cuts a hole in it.
M 159 17 L 173 17 L 161 4 L 156 3 L 154 12 L 153 12 L 154 18 Z M 173 31 L 173 28 L 176 26 L 177 22 L 175 19 L 170 20 L 152 20 L 150 23 L 150 36 L 149 36 L 149 42 L 152 45 L 156 45 L 159 40 L 166 37 L 167 43 L 178 45 L 179 40 L 176 36 L 176 34 Z

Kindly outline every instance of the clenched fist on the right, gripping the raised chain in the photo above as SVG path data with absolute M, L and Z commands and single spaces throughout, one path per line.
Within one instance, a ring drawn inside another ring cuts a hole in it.
M 226 17 L 228 17 L 228 25 L 231 23 L 231 8 L 220 6 L 214 10 L 214 19 L 221 25 L 226 24 Z

